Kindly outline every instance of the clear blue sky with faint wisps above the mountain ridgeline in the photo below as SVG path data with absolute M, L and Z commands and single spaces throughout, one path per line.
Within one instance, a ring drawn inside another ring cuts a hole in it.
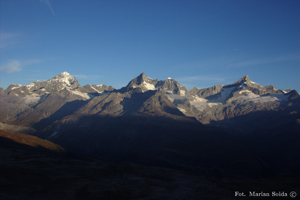
M 300 1 L 0 0 L 0 86 L 64 71 L 116 89 L 145 72 L 192 89 L 248 74 L 300 92 Z

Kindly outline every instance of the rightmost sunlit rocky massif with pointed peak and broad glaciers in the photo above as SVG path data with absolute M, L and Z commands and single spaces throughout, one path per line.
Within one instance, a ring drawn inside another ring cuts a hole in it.
M 191 104 L 199 112 L 188 112 L 188 115 L 205 124 L 221 123 L 257 111 L 283 111 L 287 102 L 299 99 L 296 91 L 282 91 L 273 85 L 261 86 L 252 82 L 247 75 L 230 85 L 216 85 L 207 89 L 193 88 L 190 93 L 196 97 Z M 293 104 L 294 109 L 297 109 L 298 104 Z

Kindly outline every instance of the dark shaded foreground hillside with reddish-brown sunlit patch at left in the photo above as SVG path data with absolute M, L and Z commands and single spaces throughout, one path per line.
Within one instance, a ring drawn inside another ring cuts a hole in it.
M 206 178 L 131 162 L 70 159 L 57 154 L 61 148 L 52 153 L 38 148 L 59 146 L 34 136 L 1 131 L 0 138 L 0 199 L 238 199 L 235 191 L 245 192 L 246 199 L 263 199 L 249 197 L 249 191 L 278 192 L 278 182 L 285 192 L 300 192 L 295 174 L 253 180 Z M 7 138 L 13 140 L 3 140 Z

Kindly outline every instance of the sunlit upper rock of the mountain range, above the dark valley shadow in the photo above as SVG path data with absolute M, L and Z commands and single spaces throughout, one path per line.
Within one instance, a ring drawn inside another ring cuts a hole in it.
M 272 85 L 263 87 L 247 75 L 229 85 L 195 87 L 187 91 L 171 78 L 151 79 L 141 73 L 126 87 L 116 90 L 107 85 L 80 86 L 75 77 L 63 72 L 52 79 L 25 86 L 12 84 L 0 97 L 3 122 L 33 127 L 54 113 L 55 117 L 50 117 L 52 120 L 72 113 L 76 116 L 171 114 L 173 117 L 195 117 L 207 124 L 254 111 L 278 110 L 282 102 L 295 101 L 300 96 L 295 90 L 282 91 Z M 57 114 L 63 110 L 65 114 Z

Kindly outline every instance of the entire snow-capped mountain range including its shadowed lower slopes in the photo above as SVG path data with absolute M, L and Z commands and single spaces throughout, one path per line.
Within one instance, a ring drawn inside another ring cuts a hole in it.
M 300 174 L 300 95 L 254 83 L 187 90 L 145 73 L 127 86 L 81 86 L 67 72 L 0 88 L 0 129 L 59 144 L 71 157 L 203 176 Z

